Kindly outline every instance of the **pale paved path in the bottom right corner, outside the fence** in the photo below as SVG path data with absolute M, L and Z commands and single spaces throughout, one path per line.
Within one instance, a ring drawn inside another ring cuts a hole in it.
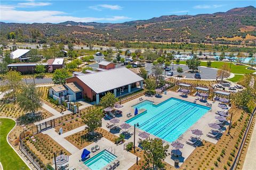
M 243 170 L 252 170 L 256 169 L 256 157 L 255 157 L 255 148 L 256 148 L 256 126 L 254 125 L 252 138 L 247 149 L 247 154 L 244 160 Z

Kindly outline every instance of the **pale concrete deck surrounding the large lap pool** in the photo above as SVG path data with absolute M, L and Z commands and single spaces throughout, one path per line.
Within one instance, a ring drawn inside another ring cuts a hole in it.
M 154 104 L 159 104 L 161 103 L 162 101 L 164 100 L 167 100 L 171 97 L 174 97 L 174 98 L 178 98 L 178 99 L 182 99 L 182 100 L 186 100 L 186 101 L 190 101 L 193 103 L 193 101 L 195 100 L 195 97 L 194 96 L 188 96 L 186 98 L 183 98 L 181 96 L 179 96 L 179 93 L 178 92 L 173 92 L 173 91 L 167 91 L 167 94 L 166 95 L 163 95 L 162 98 L 156 98 L 156 97 L 142 97 L 143 100 L 150 100 L 150 101 L 153 101 Z M 132 108 L 132 106 L 138 104 L 138 103 L 141 103 L 142 101 L 139 101 L 139 98 L 137 99 L 133 99 L 125 104 L 123 104 L 123 107 L 120 108 L 119 110 L 123 111 L 123 116 L 122 117 L 117 117 L 120 122 L 116 125 L 121 125 L 122 123 L 124 123 L 125 121 L 129 120 L 130 118 L 134 117 L 134 109 Z M 203 106 L 206 106 L 206 103 L 202 103 L 201 101 L 197 100 L 196 102 L 197 104 L 200 104 L 200 105 L 203 105 Z M 183 161 L 185 161 L 189 155 L 195 150 L 194 147 L 190 146 L 190 145 L 187 145 L 186 144 L 186 141 L 188 141 L 188 139 L 190 139 L 190 137 L 196 137 L 194 134 L 192 134 L 191 130 L 193 129 L 199 129 L 199 130 L 202 130 L 203 131 L 203 135 L 201 136 L 201 139 L 202 140 L 205 140 L 205 141 L 208 141 L 208 142 L 212 142 L 212 143 L 217 143 L 218 141 L 215 140 L 215 139 L 212 139 L 212 138 L 209 138 L 206 136 L 206 134 L 208 134 L 212 128 L 209 127 L 209 123 L 215 123 L 217 122 L 217 120 L 215 119 L 215 112 L 217 111 L 221 111 L 221 108 L 218 107 L 218 104 L 219 102 L 215 102 L 213 103 L 213 101 L 210 101 L 209 100 L 209 103 L 212 104 L 212 107 L 210 109 L 209 112 L 207 112 L 206 114 L 204 114 L 194 125 L 192 125 L 185 133 L 183 133 L 183 138 L 180 139 L 180 142 L 184 144 L 184 147 L 183 149 L 180 149 L 182 151 L 182 157 L 183 157 Z M 144 109 L 143 110 L 139 110 L 139 114 L 142 113 L 143 111 L 145 111 Z M 133 116 L 131 117 L 127 117 L 126 114 L 127 113 L 132 113 Z M 103 121 L 102 121 L 102 128 L 107 130 L 107 131 L 110 131 L 108 128 L 106 128 L 106 125 L 107 123 L 111 124 L 109 122 L 109 120 L 105 120 L 103 118 Z M 225 126 L 227 128 L 227 125 Z M 130 133 L 133 134 L 134 132 L 134 127 L 131 126 L 131 128 L 127 129 L 126 131 L 129 131 Z M 140 138 L 139 137 L 139 133 L 142 132 L 142 130 L 136 128 L 136 132 L 135 132 L 135 145 L 138 146 L 138 139 Z M 122 130 L 120 131 L 120 133 L 122 133 Z M 116 133 L 115 135 L 119 136 L 120 133 Z M 151 135 L 149 136 L 150 138 L 156 138 L 154 135 Z M 133 138 L 134 136 L 131 135 L 131 137 L 129 139 L 126 139 L 125 143 L 128 143 L 128 142 L 133 142 Z M 171 150 L 173 149 L 173 147 L 171 146 L 171 143 L 170 142 L 167 142 L 165 141 L 164 144 L 169 144 L 170 147 L 168 149 L 168 152 L 171 153 Z M 119 150 L 118 150 L 119 151 Z M 116 151 L 117 152 L 117 151 Z M 179 165 L 181 165 L 182 162 L 180 162 Z M 171 156 L 167 156 L 165 158 L 165 162 L 166 163 L 169 163 L 170 165 L 174 165 L 174 160 L 171 159 Z

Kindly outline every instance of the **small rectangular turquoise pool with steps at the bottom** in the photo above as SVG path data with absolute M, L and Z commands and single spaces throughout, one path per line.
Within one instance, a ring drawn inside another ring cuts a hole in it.
M 104 166 L 108 165 L 110 162 L 115 160 L 117 156 L 111 154 L 109 151 L 102 150 L 99 154 L 86 160 L 84 164 L 92 170 L 102 169 Z

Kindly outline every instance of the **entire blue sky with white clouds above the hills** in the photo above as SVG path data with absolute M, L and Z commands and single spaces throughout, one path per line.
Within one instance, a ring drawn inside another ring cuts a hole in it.
M 2 1 L 0 21 L 121 23 L 162 15 L 196 15 L 256 6 L 256 1 Z

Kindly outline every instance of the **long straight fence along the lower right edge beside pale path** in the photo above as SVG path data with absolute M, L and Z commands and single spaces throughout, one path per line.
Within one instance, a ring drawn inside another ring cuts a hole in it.
M 230 167 L 231 170 L 237 168 L 237 165 L 238 165 L 238 163 L 239 163 L 239 159 L 240 159 L 240 157 L 241 157 L 241 155 L 242 155 L 242 152 L 243 152 L 243 148 L 244 148 L 244 145 L 245 145 L 245 142 L 246 142 L 248 133 L 249 133 L 249 131 L 250 131 L 250 129 L 251 129 L 251 125 L 252 125 L 252 121 L 253 121 L 253 117 L 254 117 L 255 113 L 256 113 L 256 107 L 254 108 L 254 110 L 253 110 L 253 112 L 252 112 L 250 121 L 249 121 L 249 123 L 248 123 L 248 125 L 247 125 L 246 131 L 245 131 L 245 133 L 244 133 L 243 140 L 242 140 L 241 145 L 240 145 L 240 147 L 239 147 L 239 149 L 238 149 L 238 152 L 237 152 L 236 158 L 235 158 L 235 160 L 234 160 L 234 163 L 233 163 L 233 165 Z

